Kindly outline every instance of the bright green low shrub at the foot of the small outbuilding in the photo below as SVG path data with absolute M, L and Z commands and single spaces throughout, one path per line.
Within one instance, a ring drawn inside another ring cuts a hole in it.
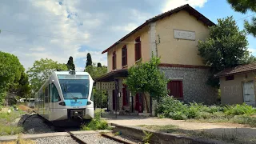
M 256 110 L 253 108 L 253 106 L 248 106 L 246 103 L 243 103 L 242 105 L 237 104 L 234 106 L 226 106 L 224 107 L 224 112 L 228 115 L 252 115 L 256 113 Z

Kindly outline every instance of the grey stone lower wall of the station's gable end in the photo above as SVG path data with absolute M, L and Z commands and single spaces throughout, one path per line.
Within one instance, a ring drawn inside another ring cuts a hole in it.
M 160 66 L 166 78 L 181 78 L 183 98 L 186 102 L 213 104 L 217 100 L 217 90 L 206 84 L 209 70 L 206 68 L 185 68 Z

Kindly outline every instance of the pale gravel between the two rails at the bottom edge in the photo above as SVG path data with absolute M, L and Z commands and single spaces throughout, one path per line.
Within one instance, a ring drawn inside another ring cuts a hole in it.
M 77 135 L 78 138 L 81 138 L 84 142 L 94 143 L 94 144 L 119 144 L 120 142 L 115 142 L 111 139 L 104 138 L 99 134 L 86 134 L 86 135 Z

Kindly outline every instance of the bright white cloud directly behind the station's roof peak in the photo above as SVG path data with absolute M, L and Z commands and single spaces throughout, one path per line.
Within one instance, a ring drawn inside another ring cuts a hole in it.
M 166 3 L 162 6 L 162 12 L 173 10 L 178 6 L 189 4 L 192 7 L 202 7 L 207 0 L 166 0 Z

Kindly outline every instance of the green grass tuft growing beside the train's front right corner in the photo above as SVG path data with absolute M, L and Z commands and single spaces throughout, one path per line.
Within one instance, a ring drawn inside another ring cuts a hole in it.
M 94 119 L 92 119 L 89 123 L 83 124 L 81 126 L 82 130 L 111 130 L 112 128 L 108 126 L 105 120 L 102 120 L 100 110 L 94 111 Z

